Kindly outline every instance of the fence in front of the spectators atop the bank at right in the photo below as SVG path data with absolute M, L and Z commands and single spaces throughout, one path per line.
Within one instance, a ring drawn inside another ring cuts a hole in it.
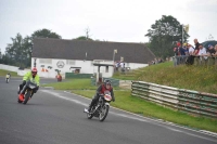
M 187 55 L 174 56 L 174 65 L 177 66 L 181 64 L 187 64 L 188 58 L 189 56 Z M 217 56 L 192 56 L 192 58 L 193 65 L 214 65 L 217 68 Z

